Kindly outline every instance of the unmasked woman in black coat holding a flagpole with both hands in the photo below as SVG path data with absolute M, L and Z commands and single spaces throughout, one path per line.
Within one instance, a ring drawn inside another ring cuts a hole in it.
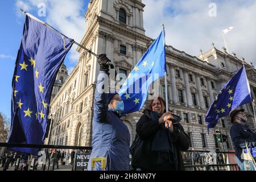
M 137 139 L 131 166 L 141 170 L 181 171 L 184 170 L 180 151 L 187 151 L 190 139 L 180 125 L 180 118 L 164 113 L 164 100 L 152 100 L 139 119 Z M 138 139 L 139 138 L 139 139 Z

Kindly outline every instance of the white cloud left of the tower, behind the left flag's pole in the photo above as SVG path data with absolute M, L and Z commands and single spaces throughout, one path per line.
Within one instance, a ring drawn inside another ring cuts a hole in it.
M 20 2 L 20 0 L 17 2 Z M 40 3 L 45 3 L 46 22 L 64 35 L 80 43 L 85 34 L 85 18 L 83 16 L 85 14 L 85 6 L 82 0 L 23 0 L 24 2 L 31 5 L 36 11 L 38 11 Z M 75 64 L 79 59 L 79 53 L 76 52 L 76 48 L 77 46 L 73 45 L 69 54 L 69 60 L 72 61 L 71 64 Z

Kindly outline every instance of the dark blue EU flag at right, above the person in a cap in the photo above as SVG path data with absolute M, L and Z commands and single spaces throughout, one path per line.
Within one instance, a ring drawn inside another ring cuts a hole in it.
M 212 106 L 208 110 L 205 122 L 208 130 L 214 128 L 218 119 L 229 115 L 232 109 L 252 101 L 249 82 L 247 80 L 245 66 L 224 85 L 218 93 Z

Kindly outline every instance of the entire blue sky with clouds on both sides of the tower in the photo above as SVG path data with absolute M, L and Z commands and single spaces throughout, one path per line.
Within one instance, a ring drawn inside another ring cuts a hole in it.
M 46 4 L 46 17 L 38 17 L 51 24 L 70 38 L 80 42 L 85 34 L 86 9 L 89 0 L 10 0 L 1 1 L 0 6 L 0 111 L 11 115 L 11 80 L 25 16 L 21 7 L 38 16 L 38 5 Z M 142 0 L 144 7 L 144 29 L 151 38 L 166 27 L 166 43 L 192 56 L 199 56 L 200 49 L 208 51 L 214 42 L 218 49 L 224 46 L 222 30 L 233 26 L 226 34 L 230 52 L 237 57 L 253 61 L 256 65 L 256 1 L 254 0 Z M 209 16 L 209 7 L 216 6 L 216 16 Z M 76 47 L 69 52 L 65 64 L 69 72 L 76 65 L 79 54 Z

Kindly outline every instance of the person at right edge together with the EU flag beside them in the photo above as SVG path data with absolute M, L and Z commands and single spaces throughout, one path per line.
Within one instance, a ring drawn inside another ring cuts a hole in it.
M 242 148 L 246 148 L 245 141 L 249 147 L 255 146 L 256 134 L 245 125 L 247 118 L 243 113 L 245 110 L 238 109 L 239 106 L 252 102 L 249 81 L 247 80 L 245 65 L 234 75 L 231 80 L 220 90 L 213 104 L 207 112 L 205 122 L 209 129 L 214 128 L 218 119 L 229 115 L 232 122 L 230 136 L 235 146 L 237 164 L 241 168 Z

